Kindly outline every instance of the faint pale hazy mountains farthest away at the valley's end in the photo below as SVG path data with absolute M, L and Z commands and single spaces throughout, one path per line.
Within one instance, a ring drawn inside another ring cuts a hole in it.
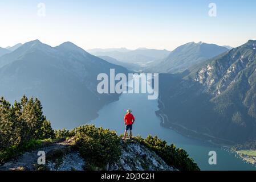
M 167 50 L 158 50 L 158 49 L 147 49 L 147 48 L 139 48 L 133 51 L 121 52 L 119 50 L 115 51 L 99 51 L 94 52 L 95 56 L 109 56 L 113 57 L 116 60 L 125 62 L 125 63 L 133 63 L 139 65 L 145 65 L 152 61 L 157 61 L 164 59 L 168 56 L 170 51 Z

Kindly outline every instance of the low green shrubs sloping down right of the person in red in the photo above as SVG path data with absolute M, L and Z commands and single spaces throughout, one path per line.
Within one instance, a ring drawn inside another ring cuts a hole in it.
M 200 170 L 193 159 L 189 158 L 185 150 L 176 148 L 173 144 L 168 145 L 165 140 L 152 137 L 151 135 L 145 139 L 141 137 L 136 137 L 135 139 L 155 151 L 169 166 L 176 167 L 180 171 Z

